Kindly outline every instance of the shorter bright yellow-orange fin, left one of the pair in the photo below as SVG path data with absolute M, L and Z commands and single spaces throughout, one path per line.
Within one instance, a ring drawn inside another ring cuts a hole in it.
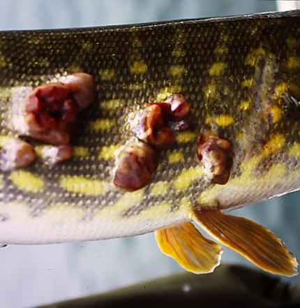
M 158 247 L 183 268 L 195 274 L 213 272 L 220 264 L 221 247 L 203 237 L 193 223 L 156 230 Z

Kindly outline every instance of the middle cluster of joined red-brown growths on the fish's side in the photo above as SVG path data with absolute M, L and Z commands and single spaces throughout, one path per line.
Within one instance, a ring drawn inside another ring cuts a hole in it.
M 188 128 L 190 105 L 183 95 L 173 94 L 163 102 L 147 103 L 140 113 L 130 112 L 126 118 L 135 138 L 116 155 L 113 182 L 126 191 L 136 191 L 149 184 L 159 154 L 173 146 L 173 131 Z

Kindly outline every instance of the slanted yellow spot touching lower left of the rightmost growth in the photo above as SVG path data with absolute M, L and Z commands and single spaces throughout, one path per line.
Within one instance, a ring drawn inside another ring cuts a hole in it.
M 205 174 L 202 165 L 185 169 L 174 179 L 172 186 L 174 187 L 174 189 L 177 189 L 179 191 L 188 189 L 190 184 L 195 182 L 195 180 L 204 177 L 204 175 Z

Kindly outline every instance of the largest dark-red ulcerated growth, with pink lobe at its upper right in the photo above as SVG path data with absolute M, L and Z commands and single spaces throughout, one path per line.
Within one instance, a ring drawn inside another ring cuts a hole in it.
M 85 73 L 69 75 L 64 83 L 37 87 L 25 105 L 29 135 L 52 145 L 66 145 L 78 112 L 91 104 L 94 92 L 93 78 Z

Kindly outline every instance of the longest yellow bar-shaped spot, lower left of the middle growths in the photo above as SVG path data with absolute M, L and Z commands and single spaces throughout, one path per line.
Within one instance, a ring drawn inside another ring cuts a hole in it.
M 80 176 L 63 176 L 59 181 L 62 189 L 72 193 L 82 193 L 84 195 L 98 196 L 106 193 L 109 184 L 98 179 L 88 179 Z

